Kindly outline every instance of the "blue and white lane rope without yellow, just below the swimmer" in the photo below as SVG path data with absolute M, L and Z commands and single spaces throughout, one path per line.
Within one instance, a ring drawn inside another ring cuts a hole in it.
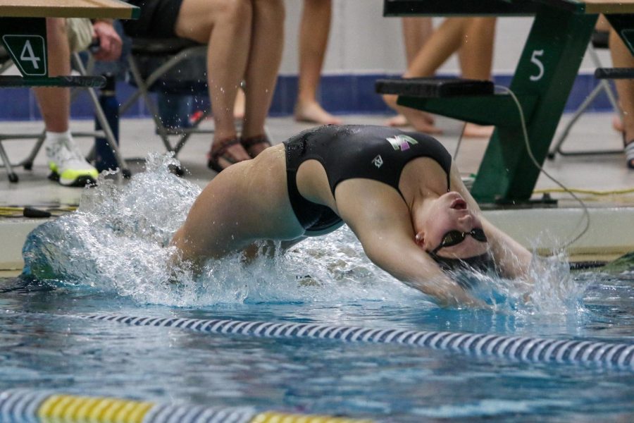
M 320 338 L 344 342 L 406 344 L 476 356 L 542 363 L 580 363 L 634 370 L 634 344 L 501 336 L 490 333 L 372 329 L 268 321 L 80 315 L 81 319 L 115 321 L 133 326 L 162 326 L 222 335 L 262 338 Z

